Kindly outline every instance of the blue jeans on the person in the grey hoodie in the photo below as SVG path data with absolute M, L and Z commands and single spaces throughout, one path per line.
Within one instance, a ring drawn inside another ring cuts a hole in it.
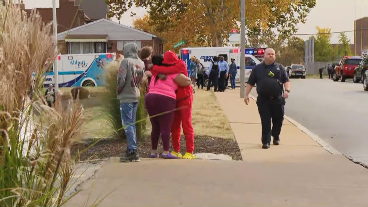
M 126 141 L 128 142 L 127 149 L 129 152 L 133 152 L 133 150 L 138 149 L 136 136 L 137 110 L 138 102 L 120 104 L 120 114 L 122 115 L 122 124 L 125 131 Z

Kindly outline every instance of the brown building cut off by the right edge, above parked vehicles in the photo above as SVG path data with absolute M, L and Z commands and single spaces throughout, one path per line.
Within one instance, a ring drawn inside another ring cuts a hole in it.
M 361 30 L 362 21 L 363 21 L 363 31 Z M 353 52 L 353 55 L 355 53 L 355 55 L 360 56 L 362 55 L 362 49 L 368 49 L 368 17 L 356 19 L 354 21 L 354 29 L 355 29 L 355 32 L 354 32 L 354 45 L 355 46 L 352 52 Z

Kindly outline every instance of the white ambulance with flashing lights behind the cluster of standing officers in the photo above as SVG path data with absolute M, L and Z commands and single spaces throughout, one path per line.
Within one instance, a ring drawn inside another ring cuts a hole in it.
M 265 48 L 246 48 L 245 49 L 245 81 L 248 80 L 250 73 L 255 65 L 261 62 L 257 58 L 263 58 Z M 256 57 L 255 57 L 255 56 Z M 206 69 L 205 85 L 208 82 L 208 70 L 214 56 L 223 56 L 231 64 L 230 59 L 235 59 L 235 64 L 238 69 L 235 81 L 240 82 L 240 47 L 218 47 L 218 48 L 181 48 L 180 58 L 184 60 L 188 75 L 190 74 L 190 58 L 196 57 Z

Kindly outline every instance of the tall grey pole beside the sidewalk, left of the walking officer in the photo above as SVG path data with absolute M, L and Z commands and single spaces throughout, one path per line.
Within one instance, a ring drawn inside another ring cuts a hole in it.
M 245 98 L 245 0 L 240 4 L 240 97 Z

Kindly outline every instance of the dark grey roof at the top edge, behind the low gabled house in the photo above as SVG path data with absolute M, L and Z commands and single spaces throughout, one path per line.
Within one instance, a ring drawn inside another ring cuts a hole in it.
M 84 13 L 92 20 L 106 18 L 107 4 L 105 0 L 74 0 L 74 5 L 84 10 Z

